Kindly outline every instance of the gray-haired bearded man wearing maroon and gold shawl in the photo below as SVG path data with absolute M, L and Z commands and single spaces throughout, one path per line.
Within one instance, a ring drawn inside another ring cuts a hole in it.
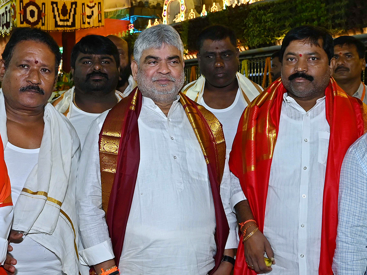
M 221 124 L 179 93 L 183 45 L 171 26 L 144 30 L 134 58 L 138 87 L 91 124 L 82 151 L 81 263 L 103 275 L 230 274 L 236 218 Z

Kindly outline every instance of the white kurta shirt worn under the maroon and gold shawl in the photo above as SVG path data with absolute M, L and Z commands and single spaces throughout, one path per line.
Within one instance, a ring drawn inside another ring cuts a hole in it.
M 106 115 L 92 122 L 79 166 L 77 211 L 85 248 L 80 254 L 89 265 L 114 257 L 101 210 L 98 129 Z M 166 117 L 145 97 L 138 126 L 140 163 L 120 272 L 206 275 L 214 267 L 215 211 L 207 165 L 192 126 L 178 100 Z M 231 229 L 226 248 L 235 248 L 236 217 L 229 206 L 230 188 L 226 162 L 221 183 Z

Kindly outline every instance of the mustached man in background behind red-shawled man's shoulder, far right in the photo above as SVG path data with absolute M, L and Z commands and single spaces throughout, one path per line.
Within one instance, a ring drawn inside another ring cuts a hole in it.
M 334 79 L 348 95 L 367 103 L 367 86 L 361 81 L 361 74 L 366 69 L 365 56 L 366 47 L 357 38 L 344 35 L 334 39 Z

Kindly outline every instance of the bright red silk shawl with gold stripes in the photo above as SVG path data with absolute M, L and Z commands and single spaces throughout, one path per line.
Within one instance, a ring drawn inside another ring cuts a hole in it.
M 276 144 L 283 94 L 281 81 L 273 82 L 243 112 L 229 158 L 230 170 L 241 183 L 252 214 L 264 230 L 270 166 Z M 338 189 L 342 161 L 349 146 L 367 128 L 367 106 L 348 96 L 333 78 L 325 90 L 330 140 L 323 195 L 319 275 L 331 275 L 338 225 Z M 247 268 L 243 243 L 237 250 L 235 275 L 256 274 Z

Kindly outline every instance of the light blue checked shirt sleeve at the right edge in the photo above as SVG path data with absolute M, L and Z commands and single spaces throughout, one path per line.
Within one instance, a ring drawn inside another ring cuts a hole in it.
M 345 155 L 339 183 L 335 275 L 363 275 L 367 269 L 367 136 Z M 367 273 L 366 273 L 367 274 Z

